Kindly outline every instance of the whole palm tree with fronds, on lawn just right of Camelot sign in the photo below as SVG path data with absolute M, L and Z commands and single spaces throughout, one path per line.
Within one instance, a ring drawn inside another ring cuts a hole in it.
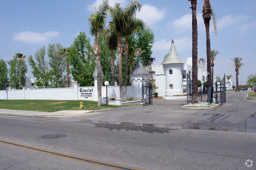
M 92 36 L 95 36 L 94 49 L 93 53 L 96 56 L 96 69 L 97 69 L 97 86 L 98 86 L 98 106 L 102 106 L 102 95 L 101 95 L 101 86 L 102 86 L 102 77 L 101 77 L 101 65 L 100 65 L 100 44 L 98 43 L 98 33 L 103 31 L 105 28 L 105 21 L 107 18 L 108 12 L 108 0 L 103 0 L 95 13 L 92 14 L 89 21 L 89 31 Z

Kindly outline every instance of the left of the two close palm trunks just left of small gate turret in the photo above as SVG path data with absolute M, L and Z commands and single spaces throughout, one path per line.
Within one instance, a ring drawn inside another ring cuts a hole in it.
M 120 91 L 120 99 L 124 98 L 122 92 L 122 40 L 120 35 L 117 38 L 117 58 L 118 58 L 118 75 L 119 75 L 119 91 Z

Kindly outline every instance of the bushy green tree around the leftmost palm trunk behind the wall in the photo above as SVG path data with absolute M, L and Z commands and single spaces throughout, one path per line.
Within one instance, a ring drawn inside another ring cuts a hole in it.
M 17 90 L 20 86 L 25 86 L 27 72 L 28 68 L 24 60 L 18 60 L 17 58 L 11 60 L 11 67 L 9 68 L 11 89 Z

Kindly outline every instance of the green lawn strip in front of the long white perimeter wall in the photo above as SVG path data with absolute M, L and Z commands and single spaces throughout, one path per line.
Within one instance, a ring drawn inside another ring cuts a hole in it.
M 83 102 L 83 108 L 80 108 L 80 102 Z M 108 108 L 120 107 L 124 106 L 108 105 Z M 0 109 L 10 110 L 56 112 L 60 110 L 100 110 L 105 108 L 107 108 L 106 105 L 98 107 L 98 102 L 95 101 L 0 100 Z

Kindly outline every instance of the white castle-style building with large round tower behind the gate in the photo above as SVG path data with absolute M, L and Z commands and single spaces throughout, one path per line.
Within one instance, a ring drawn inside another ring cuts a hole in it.
M 178 57 L 173 40 L 170 52 L 165 55 L 160 65 L 152 66 L 150 73 L 156 79 L 158 96 L 184 95 L 192 91 L 191 85 L 187 88 L 187 74 L 189 84 L 192 84 L 192 57 L 187 58 L 187 63 L 184 64 Z M 198 80 L 203 83 L 207 81 L 206 77 L 207 71 L 200 60 Z

